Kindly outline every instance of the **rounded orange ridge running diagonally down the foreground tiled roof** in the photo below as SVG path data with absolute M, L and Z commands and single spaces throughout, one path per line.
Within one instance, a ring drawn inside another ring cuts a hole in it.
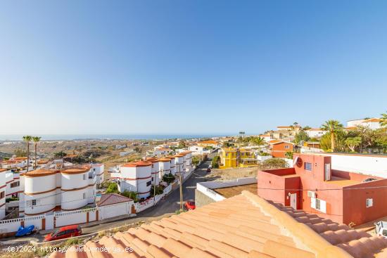
M 254 195 L 248 191 L 242 191 L 242 195 L 253 203 L 253 205 L 260 207 L 262 213 L 269 217 L 281 228 L 293 236 L 296 245 L 307 247 L 310 252 L 316 254 L 317 257 L 335 257 L 335 258 L 353 258 L 352 255 L 345 252 L 340 247 L 331 245 L 322 236 L 312 230 L 309 226 L 296 221 L 286 212 L 282 212 L 274 205 L 267 202 L 258 195 Z

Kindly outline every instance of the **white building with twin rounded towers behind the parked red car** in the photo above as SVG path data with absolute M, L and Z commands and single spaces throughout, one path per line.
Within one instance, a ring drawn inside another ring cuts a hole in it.
M 89 165 L 36 169 L 20 174 L 20 188 L 21 216 L 80 209 L 94 203 L 96 174 Z

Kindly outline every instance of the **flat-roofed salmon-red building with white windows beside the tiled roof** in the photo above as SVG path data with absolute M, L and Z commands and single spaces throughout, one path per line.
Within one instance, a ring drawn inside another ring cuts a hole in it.
M 331 169 L 331 157 L 293 155 L 294 167 L 258 172 L 258 195 L 338 223 L 387 216 L 387 179 Z

